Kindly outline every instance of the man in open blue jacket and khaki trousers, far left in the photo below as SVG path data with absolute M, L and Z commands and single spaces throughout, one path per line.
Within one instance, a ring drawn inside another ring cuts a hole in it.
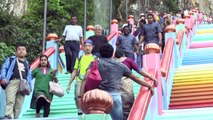
M 1 69 L 0 84 L 5 87 L 6 93 L 5 119 L 18 119 L 24 97 L 32 91 L 32 77 L 29 63 L 25 58 L 26 54 L 25 45 L 18 44 L 16 56 L 8 57 Z M 30 88 L 28 93 L 20 91 L 21 80 L 27 82 L 25 85 Z

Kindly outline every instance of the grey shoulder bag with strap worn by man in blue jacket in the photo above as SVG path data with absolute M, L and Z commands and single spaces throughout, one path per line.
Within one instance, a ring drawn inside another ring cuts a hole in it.
M 20 67 L 19 67 L 19 61 L 16 59 L 17 64 L 18 64 L 18 71 L 20 75 L 20 87 L 19 87 L 19 92 L 21 92 L 23 95 L 29 95 L 30 94 L 30 85 L 28 84 L 27 80 L 23 79 Z

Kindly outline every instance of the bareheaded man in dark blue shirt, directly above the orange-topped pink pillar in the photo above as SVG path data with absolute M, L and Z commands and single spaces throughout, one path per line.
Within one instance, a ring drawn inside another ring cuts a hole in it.
M 143 26 L 143 30 L 140 37 L 140 43 L 144 41 L 144 46 L 149 43 L 162 44 L 162 28 L 159 23 L 154 22 L 153 14 L 147 15 L 148 24 Z

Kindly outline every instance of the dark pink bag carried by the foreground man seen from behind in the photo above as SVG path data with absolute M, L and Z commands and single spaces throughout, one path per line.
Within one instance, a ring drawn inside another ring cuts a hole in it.
M 85 90 L 93 90 L 98 88 L 101 83 L 101 75 L 98 70 L 98 60 L 95 60 L 92 65 L 89 74 L 86 77 Z

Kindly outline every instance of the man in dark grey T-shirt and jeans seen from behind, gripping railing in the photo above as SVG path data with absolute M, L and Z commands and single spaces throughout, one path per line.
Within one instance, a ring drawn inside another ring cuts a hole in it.
M 113 99 L 113 109 L 110 113 L 113 120 L 123 120 L 122 100 L 120 94 L 120 83 L 123 76 L 129 77 L 140 85 L 146 86 L 153 93 L 153 88 L 143 79 L 134 75 L 125 65 L 112 59 L 114 49 L 110 44 L 100 48 L 101 59 L 98 60 L 98 70 L 102 81 L 99 89 L 108 92 Z M 90 67 L 87 69 L 88 75 Z M 86 77 L 85 77 L 86 78 Z M 81 95 L 84 93 L 85 81 L 82 84 Z

